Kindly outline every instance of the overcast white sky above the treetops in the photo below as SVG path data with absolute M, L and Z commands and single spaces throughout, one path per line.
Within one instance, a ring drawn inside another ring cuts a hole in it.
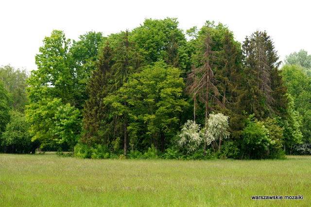
M 88 31 L 106 36 L 165 17 L 176 17 L 183 30 L 221 22 L 240 42 L 266 30 L 283 60 L 300 49 L 310 54 L 310 8 L 307 0 L 1 0 L 0 66 L 36 69 L 35 54 L 53 29 L 78 40 Z

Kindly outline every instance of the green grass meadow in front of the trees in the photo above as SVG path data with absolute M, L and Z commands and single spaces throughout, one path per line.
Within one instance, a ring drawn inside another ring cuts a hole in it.
M 303 200 L 252 200 L 303 195 Z M 311 156 L 90 160 L 0 154 L 0 206 L 309 206 Z

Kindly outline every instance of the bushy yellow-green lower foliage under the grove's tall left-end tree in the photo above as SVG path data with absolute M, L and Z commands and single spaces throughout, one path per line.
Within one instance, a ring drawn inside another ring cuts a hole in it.
M 27 110 L 27 121 L 31 123 L 32 140 L 39 140 L 44 147 L 52 140 L 67 142 L 73 150 L 80 138 L 80 111 L 70 104 L 63 104 L 61 99 L 45 99 L 31 104 Z

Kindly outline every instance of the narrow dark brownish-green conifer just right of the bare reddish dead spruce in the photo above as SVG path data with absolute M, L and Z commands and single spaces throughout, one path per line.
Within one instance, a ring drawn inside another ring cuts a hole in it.
M 240 137 L 243 128 L 242 111 L 245 109 L 246 91 L 242 78 L 242 51 L 240 44 L 235 42 L 233 34 L 226 29 L 222 39 L 220 52 L 221 69 L 217 77 L 221 80 L 222 103 L 227 110 L 224 113 L 230 117 L 230 130 L 233 138 Z

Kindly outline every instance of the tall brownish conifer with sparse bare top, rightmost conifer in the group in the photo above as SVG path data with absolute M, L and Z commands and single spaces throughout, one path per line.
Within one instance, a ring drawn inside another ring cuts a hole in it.
M 273 42 L 266 32 L 256 31 L 246 37 L 242 49 L 245 56 L 246 88 L 249 92 L 248 112 L 255 113 L 258 119 L 262 119 L 273 112 L 272 106 L 276 100 L 272 96 L 271 73 L 280 63 Z

